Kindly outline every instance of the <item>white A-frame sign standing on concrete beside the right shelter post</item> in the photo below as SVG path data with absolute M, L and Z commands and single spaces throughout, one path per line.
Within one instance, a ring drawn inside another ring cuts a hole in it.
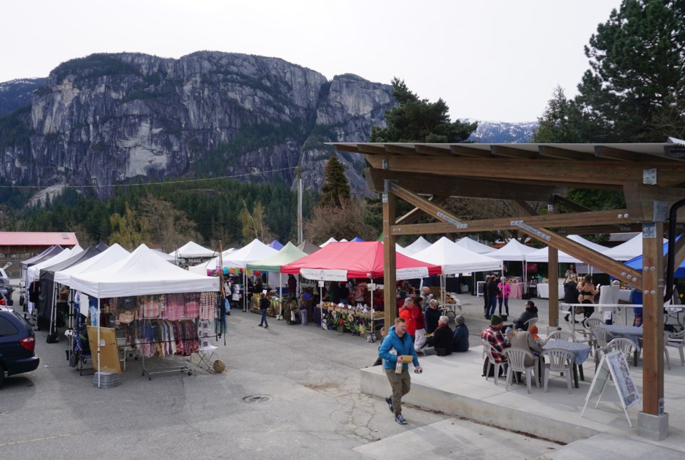
M 630 423 L 630 417 L 626 409 L 640 402 L 640 394 L 637 392 L 637 387 L 635 387 L 633 382 L 626 357 L 619 351 L 607 353 L 602 357 L 602 361 L 599 362 L 599 367 L 597 367 L 597 372 L 594 373 L 594 379 L 592 379 L 592 384 L 585 397 L 585 405 L 580 416 L 585 414 L 585 409 L 590 399 L 599 395 L 597 397 L 597 404 L 594 405 L 595 409 L 597 409 L 599 399 L 602 399 L 602 393 L 604 393 L 604 387 L 607 386 L 609 381 L 609 375 L 614 380 L 614 387 L 616 387 L 616 391 L 619 394 L 623 412 L 625 412 L 628 419 L 628 425 L 632 428 L 633 424 Z

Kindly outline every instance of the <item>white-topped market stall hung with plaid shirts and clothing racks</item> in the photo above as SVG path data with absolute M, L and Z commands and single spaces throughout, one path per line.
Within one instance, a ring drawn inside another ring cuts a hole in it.
M 108 267 L 71 277 L 72 289 L 96 301 L 98 354 L 101 328 L 121 326 L 121 338 L 141 350 L 143 374 L 148 375 L 187 369 L 151 371 L 145 359 L 200 351 L 201 340 L 208 339 L 203 329 L 209 329 L 216 318 L 219 283 L 216 277 L 196 275 L 161 260 L 146 245 Z

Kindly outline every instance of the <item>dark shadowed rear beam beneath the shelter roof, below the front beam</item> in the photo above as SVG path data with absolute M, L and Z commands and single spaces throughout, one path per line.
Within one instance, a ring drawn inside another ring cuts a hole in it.
M 485 182 L 477 178 L 455 178 L 440 174 L 397 173 L 380 168 L 367 168 L 364 175 L 369 190 L 382 193 L 385 179 L 412 190 L 420 195 L 460 196 L 466 198 L 489 198 L 493 200 L 552 200 L 554 193 L 564 193 L 564 188 L 548 185 L 516 184 L 504 180 Z

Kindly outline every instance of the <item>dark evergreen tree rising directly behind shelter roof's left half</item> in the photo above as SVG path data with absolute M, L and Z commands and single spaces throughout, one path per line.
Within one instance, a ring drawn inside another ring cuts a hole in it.
M 397 106 L 385 111 L 387 128 L 373 126 L 370 142 L 464 142 L 478 126 L 450 121 L 450 108 L 442 98 L 437 102 L 420 99 L 399 78 L 392 79 L 392 96 Z

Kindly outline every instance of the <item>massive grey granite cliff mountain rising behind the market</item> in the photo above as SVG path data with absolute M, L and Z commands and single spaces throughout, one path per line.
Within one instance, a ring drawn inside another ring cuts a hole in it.
M 352 190 L 365 193 L 363 158 L 324 143 L 367 140 L 394 103 L 389 85 L 353 75 L 328 81 L 278 58 L 96 54 L 62 63 L 30 103 L 0 118 L 0 175 L 91 185 L 108 196 L 108 185 L 139 178 L 290 184 L 300 165 L 305 186 L 318 188 L 325 160 L 338 155 Z

